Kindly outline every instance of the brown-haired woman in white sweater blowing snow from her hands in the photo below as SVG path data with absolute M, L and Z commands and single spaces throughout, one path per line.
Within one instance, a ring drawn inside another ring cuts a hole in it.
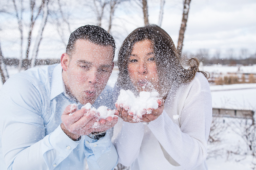
M 171 37 L 157 25 L 135 29 L 118 54 L 120 89 L 157 90 L 163 105 L 141 122 L 132 121 L 117 106 L 122 118 L 114 127 L 113 142 L 119 162 L 132 170 L 207 169 L 207 139 L 211 126 L 211 92 L 206 74 L 195 58 L 184 69 Z M 177 118 L 178 117 L 178 118 Z

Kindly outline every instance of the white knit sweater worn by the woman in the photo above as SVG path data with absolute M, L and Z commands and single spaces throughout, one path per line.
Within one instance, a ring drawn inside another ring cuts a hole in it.
M 148 125 L 119 119 L 112 138 L 119 162 L 132 170 L 207 170 L 211 115 L 209 83 L 196 73 L 190 83 L 170 90 L 162 115 Z M 166 160 L 159 142 L 181 166 Z

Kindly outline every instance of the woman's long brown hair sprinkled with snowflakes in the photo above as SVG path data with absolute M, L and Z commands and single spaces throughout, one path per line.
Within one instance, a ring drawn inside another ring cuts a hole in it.
M 128 75 L 128 61 L 132 48 L 135 43 L 143 40 L 151 40 L 154 46 L 154 57 L 158 70 L 159 86 L 162 89 L 163 98 L 166 98 L 170 88 L 175 85 L 179 86 L 182 83 L 191 81 L 196 72 L 199 71 L 199 62 L 196 58 L 191 58 L 188 61 L 190 67 L 184 69 L 181 65 L 180 58 L 177 54 L 173 40 L 158 25 L 147 25 L 135 29 L 124 40 L 118 54 L 118 68 L 119 74 L 117 79 L 117 85 L 124 90 L 132 90 L 137 94 L 132 82 Z M 206 73 L 204 73 L 206 76 Z

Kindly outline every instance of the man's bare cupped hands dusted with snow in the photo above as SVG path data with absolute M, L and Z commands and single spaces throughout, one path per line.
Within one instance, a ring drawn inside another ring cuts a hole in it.
M 104 131 L 113 127 L 117 123 L 116 117 L 99 119 L 100 114 L 91 109 L 82 108 L 78 110 L 74 105 L 68 105 L 61 116 L 61 129 L 72 140 L 77 140 L 81 135 L 92 132 Z M 95 126 L 97 125 L 97 126 Z

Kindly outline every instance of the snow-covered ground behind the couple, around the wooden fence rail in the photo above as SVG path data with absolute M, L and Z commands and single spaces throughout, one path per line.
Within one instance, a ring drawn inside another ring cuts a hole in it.
M 204 66 L 208 72 L 246 72 L 256 73 L 256 65 L 253 66 Z M 9 75 L 17 72 L 9 69 Z M 115 68 L 109 78 L 108 85 L 113 87 L 117 80 L 118 70 Z M 0 88 L 1 88 L 0 84 Z M 215 108 L 225 109 L 249 109 L 256 112 L 256 83 L 232 84 L 232 85 L 211 85 L 212 105 Z M 223 121 L 225 120 L 225 122 Z M 241 119 L 222 118 L 220 128 L 223 131 L 219 134 L 220 142 L 209 145 L 208 151 L 214 152 L 211 158 L 207 159 L 209 170 L 252 170 L 256 168 L 256 160 L 245 145 L 245 141 L 233 130 L 237 128 L 234 123 L 240 123 Z M 245 120 L 244 120 L 245 121 Z M 238 129 L 240 130 L 240 129 Z

